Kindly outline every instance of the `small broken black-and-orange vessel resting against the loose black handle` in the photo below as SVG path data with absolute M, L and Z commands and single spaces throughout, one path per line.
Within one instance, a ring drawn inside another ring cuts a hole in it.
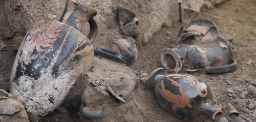
M 133 38 L 113 40 L 111 49 L 116 50 L 122 54 L 122 58 L 127 65 L 135 62 L 138 56 L 138 51 Z

